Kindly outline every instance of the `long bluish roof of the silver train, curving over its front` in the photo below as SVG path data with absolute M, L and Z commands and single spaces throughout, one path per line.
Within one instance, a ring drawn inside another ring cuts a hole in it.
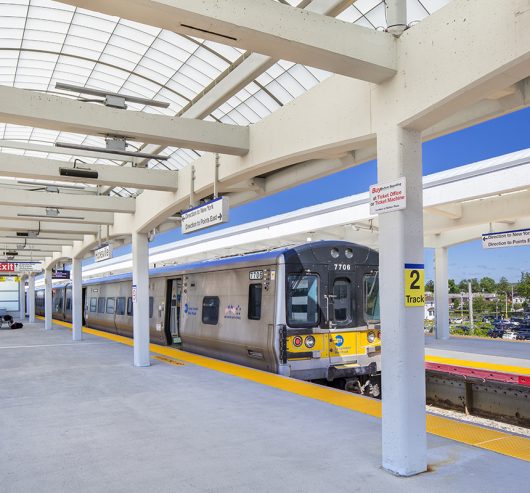
M 272 259 L 277 259 L 280 255 L 284 255 L 286 263 L 290 262 L 321 262 L 321 252 L 329 252 L 329 249 L 336 247 L 351 248 L 354 252 L 353 260 L 358 264 L 374 263 L 377 261 L 377 252 L 368 247 L 350 243 L 347 241 L 322 240 L 294 247 L 282 247 L 266 252 L 249 253 L 245 255 L 234 255 L 233 257 L 224 257 L 212 260 L 202 260 L 200 262 L 191 262 L 178 265 L 167 265 L 164 267 L 157 267 L 149 269 L 149 275 L 152 277 L 178 275 L 189 271 L 204 271 L 216 267 L 231 266 L 237 264 L 257 263 Z M 83 281 L 83 285 L 90 286 L 92 284 L 110 283 L 117 281 L 126 281 L 132 279 L 132 273 L 115 274 L 105 277 L 95 277 Z M 68 286 L 70 283 L 62 283 L 54 285 L 54 288 L 62 288 Z

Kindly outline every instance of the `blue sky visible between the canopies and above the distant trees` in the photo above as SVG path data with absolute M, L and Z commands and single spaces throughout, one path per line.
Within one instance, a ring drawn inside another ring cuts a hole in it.
M 526 108 L 474 127 L 439 137 L 423 144 L 423 174 L 489 159 L 530 147 L 530 108 Z M 376 162 L 335 173 L 280 192 L 230 211 L 230 221 L 186 238 L 264 219 L 302 207 L 366 192 L 377 182 Z M 151 246 L 184 238 L 180 229 L 157 235 Z M 130 252 L 130 246 L 116 249 L 114 256 Z M 425 277 L 433 279 L 434 252 L 425 249 Z M 517 281 L 521 271 L 530 271 L 530 247 L 484 250 L 480 240 L 449 248 L 449 278 L 506 277 Z

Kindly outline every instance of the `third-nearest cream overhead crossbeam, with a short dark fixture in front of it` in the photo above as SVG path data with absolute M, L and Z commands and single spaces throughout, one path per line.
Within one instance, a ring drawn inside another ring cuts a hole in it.
M 0 153 L 0 176 L 30 178 L 33 180 L 87 183 L 91 185 L 112 185 L 126 188 L 141 188 L 164 191 L 177 190 L 177 172 L 113 166 L 107 164 L 81 164 L 78 168 L 98 173 L 98 178 L 62 176 L 61 168 L 73 168 L 72 163 L 38 157 L 17 156 Z

